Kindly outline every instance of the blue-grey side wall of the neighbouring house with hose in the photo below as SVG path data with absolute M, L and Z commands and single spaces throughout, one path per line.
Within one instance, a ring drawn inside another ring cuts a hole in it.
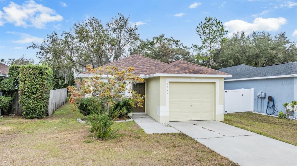
M 256 79 L 256 80 L 242 80 L 242 81 L 225 81 L 224 89 L 250 89 L 254 88 L 254 110 L 262 113 L 266 113 L 268 96 L 272 96 L 274 99 L 274 105 L 277 107 L 277 112 L 286 112 L 285 107 L 282 106 L 285 102 L 292 102 L 297 100 L 297 78 L 273 78 L 273 79 Z M 257 93 L 260 91 L 266 93 L 265 98 L 258 98 Z M 261 107 L 262 102 L 262 107 Z M 272 102 L 269 102 L 269 106 Z M 272 109 L 268 108 L 268 113 L 271 113 Z M 297 117 L 297 113 L 294 113 L 294 117 Z

